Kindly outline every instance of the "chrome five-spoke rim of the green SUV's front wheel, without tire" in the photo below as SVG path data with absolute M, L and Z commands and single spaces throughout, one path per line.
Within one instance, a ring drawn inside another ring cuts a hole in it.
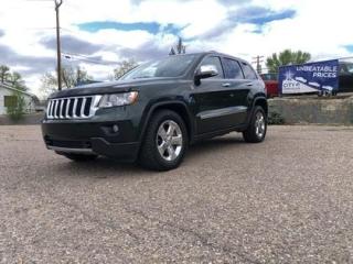
M 157 132 L 156 144 L 163 160 L 175 161 L 183 147 L 183 134 L 179 124 L 172 120 L 162 122 Z

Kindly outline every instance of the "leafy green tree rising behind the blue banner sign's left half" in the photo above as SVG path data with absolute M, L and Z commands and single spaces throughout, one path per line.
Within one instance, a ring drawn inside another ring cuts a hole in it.
M 278 73 L 279 66 L 291 65 L 291 64 L 303 64 L 311 59 L 310 53 L 306 52 L 292 52 L 291 50 L 285 50 L 278 55 L 274 53 L 267 58 L 266 67 L 269 73 Z

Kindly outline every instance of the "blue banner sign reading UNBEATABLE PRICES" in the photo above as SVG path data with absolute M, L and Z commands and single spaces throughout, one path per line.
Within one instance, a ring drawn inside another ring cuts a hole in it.
M 339 89 L 339 61 L 279 67 L 278 86 L 282 95 Z

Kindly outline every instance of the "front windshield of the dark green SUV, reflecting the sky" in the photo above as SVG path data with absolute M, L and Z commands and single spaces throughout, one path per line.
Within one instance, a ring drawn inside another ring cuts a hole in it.
M 195 55 L 172 55 L 149 62 L 127 73 L 121 77 L 121 80 L 182 76 L 194 59 Z

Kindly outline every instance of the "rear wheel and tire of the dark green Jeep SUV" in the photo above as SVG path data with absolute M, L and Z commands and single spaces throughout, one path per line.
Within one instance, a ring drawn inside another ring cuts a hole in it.
M 250 123 L 246 131 L 243 132 L 243 138 L 248 143 L 260 143 L 265 140 L 267 132 L 267 117 L 260 106 L 255 107 Z

